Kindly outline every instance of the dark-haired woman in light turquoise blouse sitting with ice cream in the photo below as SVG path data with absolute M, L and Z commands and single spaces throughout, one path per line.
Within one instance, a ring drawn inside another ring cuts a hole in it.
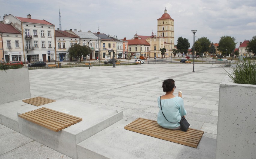
M 181 98 L 182 95 L 180 95 L 180 97 L 173 95 L 176 86 L 172 79 L 164 80 L 162 88 L 166 94 L 157 99 L 158 107 L 160 109 L 157 115 L 157 123 L 167 129 L 181 129 L 179 122 L 181 117 L 187 114 Z

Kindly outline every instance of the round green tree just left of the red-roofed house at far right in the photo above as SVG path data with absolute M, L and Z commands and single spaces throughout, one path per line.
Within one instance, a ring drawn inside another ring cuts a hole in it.
M 222 55 L 227 56 L 236 48 L 236 38 L 231 36 L 221 36 L 219 41 L 218 50 L 222 52 Z

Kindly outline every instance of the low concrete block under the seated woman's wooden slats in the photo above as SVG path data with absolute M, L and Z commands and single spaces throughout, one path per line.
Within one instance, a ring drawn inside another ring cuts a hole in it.
M 216 139 L 202 137 L 197 148 L 125 130 L 122 119 L 77 145 L 82 158 L 215 158 Z M 189 157 L 188 157 L 189 156 Z

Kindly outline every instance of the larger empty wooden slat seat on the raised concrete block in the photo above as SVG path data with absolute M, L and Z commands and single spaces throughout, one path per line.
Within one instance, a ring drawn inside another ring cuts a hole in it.
M 20 114 L 19 117 L 55 132 L 61 131 L 62 129 L 83 120 L 80 117 L 75 117 L 73 115 L 65 114 L 45 107 Z

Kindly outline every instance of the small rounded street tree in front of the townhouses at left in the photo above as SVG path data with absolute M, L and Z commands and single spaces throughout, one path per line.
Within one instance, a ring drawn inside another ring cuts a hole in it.
M 89 46 L 81 46 L 80 44 L 73 44 L 69 49 L 68 49 L 68 52 L 69 52 L 69 56 L 70 57 L 74 57 L 74 58 L 79 58 L 80 59 L 80 62 L 81 62 L 81 58 L 82 56 L 87 56 L 90 54 L 91 52 L 91 48 Z

